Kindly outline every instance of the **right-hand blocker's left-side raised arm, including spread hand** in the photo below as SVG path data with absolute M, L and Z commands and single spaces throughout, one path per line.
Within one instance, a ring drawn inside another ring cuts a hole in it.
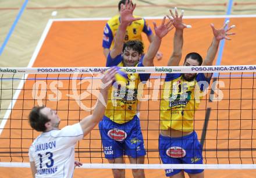
M 184 10 L 182 13 L 178 14 L 177 8 L 175 8 L 175 15 L 173 14 L 172 10 L 170 9 L 170 16 L 169 19 L 173 19 L 173 26 L 175 27 L 175 34 L 173 37 L 173 52 L 172 56 L 168 61 L 168 66 L 179 66 L 180 60 L 182 59 L 182 47 L 183 47 L 183 30 L 185 28 L 191 28 L 190 25 L 186 25 L 182 22 L 182 17 L 184 14 Z

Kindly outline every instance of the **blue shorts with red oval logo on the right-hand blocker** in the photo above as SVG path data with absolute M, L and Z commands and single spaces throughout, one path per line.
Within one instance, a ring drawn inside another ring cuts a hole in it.
M 183 137 L 159 136 L 159 154 L 164 164 L 202 164 L 202 147 L 197 133 Z M 165 169 L 166 177 L 176 175 L 182 169 Z M 203 169 L 184 169 L 184 172 L 196 174 Z

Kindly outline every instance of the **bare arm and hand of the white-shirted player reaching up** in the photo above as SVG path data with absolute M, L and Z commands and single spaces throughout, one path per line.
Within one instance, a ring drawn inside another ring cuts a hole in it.
M 112 86 L 112 81 L 115 78 L 116 69 L 114 67 L 108 69 L 108 72 L 102 78 L 102 87 L 100 94 L 98 96 L 98 104 L 94 109 L 93 115 L 87 116 L 80 121 L 81 128 L 83 130 L 84 136 L 90 133 L 91 130 L 99 123 L 103 118 L 105 113 L 106 101 L 108 99 L 108 88 Z M 102 103 L 100 98 L 104 99 Z

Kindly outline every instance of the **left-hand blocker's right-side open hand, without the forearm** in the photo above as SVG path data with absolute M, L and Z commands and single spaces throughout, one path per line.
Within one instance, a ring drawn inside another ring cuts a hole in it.
M 165 19 L 166 19 L 166 16 L 163 17 L 163 20 L 162 20 L 162 24 L 160 26 L 157 27 L 157 24 L 155 22 L 153 22 L 154 24 L 154 30 L 155 30 L 155 35 L 159 38 L 163 38 L 166 34 L 168 34 L 168 32 L 170 30 L 172 30 L 174 27 L 172 26 L 173 24 L 173 20 L 170 19 L 168 21 L 168 23 L 165 24 Z

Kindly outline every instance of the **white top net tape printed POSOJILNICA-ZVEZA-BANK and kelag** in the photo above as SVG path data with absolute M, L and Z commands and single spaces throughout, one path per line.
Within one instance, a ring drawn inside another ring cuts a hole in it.
M 5 67 L 0 74 L 91 74 L 101 73 L 109 67 Z M 233 73 L 256 72 L 255 65 L 241 66 L 157 66 L 157 67 L 122 67 L 127 73 Z

